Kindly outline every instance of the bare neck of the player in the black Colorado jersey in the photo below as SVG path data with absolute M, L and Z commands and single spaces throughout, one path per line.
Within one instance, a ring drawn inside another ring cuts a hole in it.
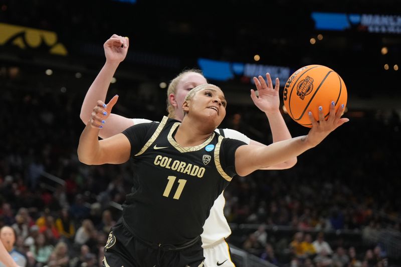
M 213 134 L 213 130 L 205 130 L 197 124 L 198 122 L 190 123 L 189 120 L 183 120 L 174 135 L 175 141 L 182 147 L 204 143 Z

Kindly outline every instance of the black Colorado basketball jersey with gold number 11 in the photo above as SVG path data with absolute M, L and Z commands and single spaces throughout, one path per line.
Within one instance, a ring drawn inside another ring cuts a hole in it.
M 235 172 L 235 151 L 245 143 L 213 133 L 203 144 L 181 147 L 180 125 L 163 117 L 126 129 L 134 185 L 123 204 L 123 221 L 151 243 L 181 244 L 199 236 L 215 199 Z

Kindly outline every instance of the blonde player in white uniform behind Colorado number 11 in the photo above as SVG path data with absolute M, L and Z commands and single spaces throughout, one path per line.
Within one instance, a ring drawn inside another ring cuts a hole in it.
M 84 102 L 82 104 L 80 118 L 83 123 L 87 123 L 90 114 L 97 100 L 106 99 L 107 90 L 118 65 L 125 59 L 129 46 L 128 38 L 113 35 L 104 44 L 106 63 L 99 72 L 96 79 L 90 86 Z M 251 90 L 251 98 L 255 105 L 265 112 L 272 131 L 273 142 L 290 139 L 291 135 L 280 113 L 279 105 L 279 80 L 276 79 L 273 88 L 272 80 L 269 74 L 266 74 L 266 80 L 262 76 L 254 77 L 258 96 L 254 90 Z M 190 70 L 180 73 L 169 84 L 167 89 L 167 111 L 168 117 L 176 120 L 182 120 L 182 104 L 186 94 L 194 87 L 207 84 L 206 78 L 198 70 Z M 108 112 L 107 108 L 105 109 Z M 101 138 L 107 138 L 121 133 L 126 128 L 139 123 L 151 122 L 147 119 L 130 119 L 116 114 L 107 114 L 107 124 L 105 123 L 99 132 Z M 246 135 L 232 129 L 217 129 L 218 133 L 232 139 L 244 141 L 247 144 L 265 146 L 262 143 L 251 140 Z M 270 166 L 267 169 L 288 169 L 297 162 L 296 157 L 289 161 Z M 202 233 L 202 242 L 205 255 L 205 266 L 235 266 L 231 260 L 230 250 L 225 238 L 231 234 L 231 229 L 224 216 L 223 208 L 225 199 L 223 193 L 216 199 L 208 219 L 204 224 Z

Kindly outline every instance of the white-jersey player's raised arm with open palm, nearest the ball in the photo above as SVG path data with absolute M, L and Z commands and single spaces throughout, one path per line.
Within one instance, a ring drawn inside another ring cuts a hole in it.
M 252 101 L 260 110 L 265 112 L 269 120 L 270 129 L 272 131 L 273 143 L 291 139 L 290 131 L 288 130 L 284 118 L 280 112 L 279 78 L 276 78 L 276 84 L 274 88 L 269 73 L 266 74 L 266 80 L 267 83 L 262 76 L 259 76 L 258 78 L 254 77 L 254 82 L 256 88 L 258 89 L 258 96 L 256 95 L 255 90 L 251 89 Z M 251 140 L 250 145 L 265 146 L 264 144 L 255 140 Z M 284 162 L 263 169 L 288 169 L 293 167 L 296 163 L 297 157 L 295 156 L 285 160 Z

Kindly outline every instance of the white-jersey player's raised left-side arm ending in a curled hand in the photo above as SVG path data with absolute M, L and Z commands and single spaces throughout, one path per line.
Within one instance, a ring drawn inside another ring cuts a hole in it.
M 113 35 L 104 43 L 103 48 L 106 56 L 106 63 L 89 87 L 84 102 L 82 103 L 80 118 L 85 124 L 89 121 L 92 109 L 96 106 L 97 101 L 105 101 L 110 81 L 120 62 L 125 59 L 128 47 L 128 38 L 118 35 Z M 117 114 L 109 114 L 107 125 L 104 125 L 103 129 L 99 132 L 99 136 L 107 138 L 121 133 L 132 125 L 133 121 L 129 118 Z

